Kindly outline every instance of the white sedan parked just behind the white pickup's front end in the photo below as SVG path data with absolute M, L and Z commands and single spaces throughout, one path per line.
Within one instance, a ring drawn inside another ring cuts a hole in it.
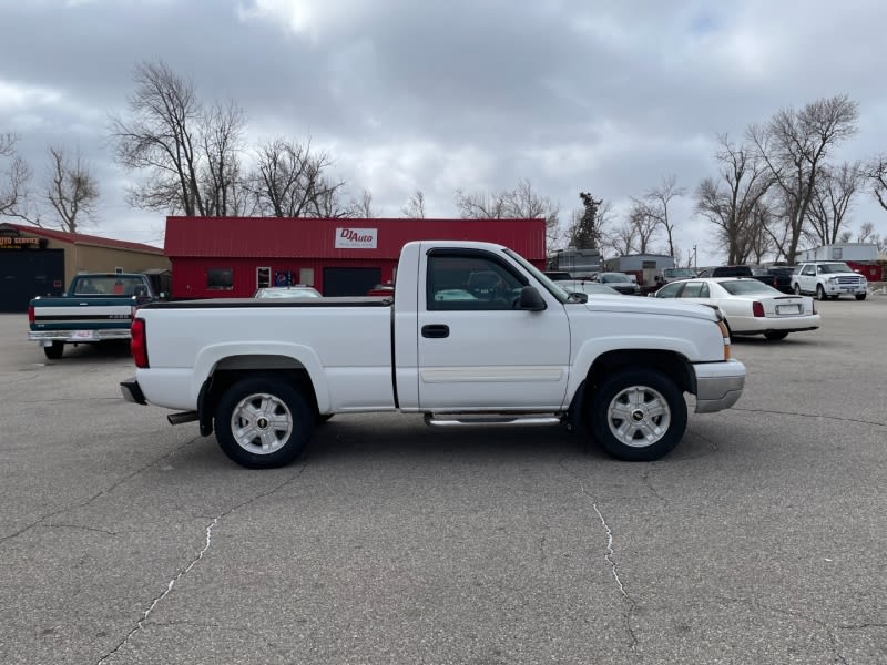
M 731 336 L 763 335 L 767 339 L 785 339 L 789 332 L 815 330 L 820 323 L 813 298 L 787 296 L 746 277 L 672 282 L 653 296 L 716 306 L 726 319 Z

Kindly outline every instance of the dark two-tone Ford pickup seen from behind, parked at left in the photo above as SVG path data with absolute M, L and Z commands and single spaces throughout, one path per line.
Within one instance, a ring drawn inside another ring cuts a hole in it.
M 140 273 L 83 273 L 60 297 L 33 298 L 28 306 L 28 339 L 58 359 L 65 344 L 130 339 L 135 310 L 160 297 Z

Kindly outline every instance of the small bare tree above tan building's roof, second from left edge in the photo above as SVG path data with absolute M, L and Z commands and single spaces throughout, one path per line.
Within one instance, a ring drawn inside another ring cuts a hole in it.
M 83 217 L 90 219 L 95 214 L 99 185 L 79 152 L 70 157 L 64 149 L 50 146 L 49 155 L 47 202 L 59 216 L 61 229 L 77 233 Z

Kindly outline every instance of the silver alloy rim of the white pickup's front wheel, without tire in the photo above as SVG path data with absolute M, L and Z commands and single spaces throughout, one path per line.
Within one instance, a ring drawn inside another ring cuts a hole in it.
M 667 400 L 649 386 L 630 386 L 606 409 L 606 424 L 621 443 L 645 448 L 662 439 L 672 420 Z

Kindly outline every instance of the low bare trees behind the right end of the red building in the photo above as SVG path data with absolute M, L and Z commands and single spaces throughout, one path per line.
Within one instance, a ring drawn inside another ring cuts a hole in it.
M 457 190 L 456 207 L 463 219 L 544 218 L 549 244 L 554 244 L 559 236 L 560 205 L 533 192 L 529 180 L 521 180 L 514 190 L 498 194 L 466 194 Z

